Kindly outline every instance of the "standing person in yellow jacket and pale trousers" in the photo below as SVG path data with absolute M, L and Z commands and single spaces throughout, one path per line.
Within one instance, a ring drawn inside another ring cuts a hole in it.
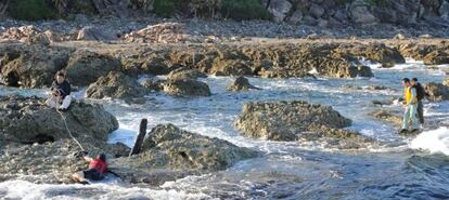
M 411 132 L 418 131 L 418 119 L 416 119 L 416 108 L 418 108 L 418 97 L 416 89 L 410 82 L 410 79 L 402 79 L 403 89 L 403 104 L 406 111 L 403 112 L 402 118 L 402 129 L 400 133 L 407 133 L 409 131 L 409 124 L 411 123 Z

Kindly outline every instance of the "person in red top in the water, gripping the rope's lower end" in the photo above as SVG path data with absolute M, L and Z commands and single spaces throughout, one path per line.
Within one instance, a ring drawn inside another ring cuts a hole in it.
M 72 175 L 72 178 L 81 184 L 88 184 L 88 179 L 100 181 L 104 178 L 104 174 L 107 173 L 106 156 L 101 154 L 97 158 L 90 158 L 87 152 L 79 152 L 85 161 L 89 162 L 89 170 L 81 171 Z

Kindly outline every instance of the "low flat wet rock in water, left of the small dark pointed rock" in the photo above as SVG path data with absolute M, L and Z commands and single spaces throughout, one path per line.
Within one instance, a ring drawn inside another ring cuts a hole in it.
M 164 83 L 164 92 L 175 96 L 210 96 L 209 86 L 192 79 L 175 79 Z

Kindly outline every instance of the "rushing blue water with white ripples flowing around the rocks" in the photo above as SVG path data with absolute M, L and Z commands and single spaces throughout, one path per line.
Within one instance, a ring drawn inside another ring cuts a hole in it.
M 249 82 L 261 91 L 227 92 L 231 78 L 203 79 L 213 95 L 175 98 L 149 94 L 144 105 L 101 101 L 119 120 L 120 129 L 110 142 L 132 145 L 141 118 L 149 126 L 174 123 L 182 129 L 257 149 L 264 157 L 239 162 L 227 171 L 190 176 L 162 187 L 129 186 L 123 183 L 38 185 L 20 179 L 0 183 L 0 197 L 18 199 L 448 199 L 449 130 L 428 130 L 416 137 L 396 134 L 398 128 L 367 116 L 376 107 L 371 101 L 401 95 L 400 79 L 418 77 L 422 82 L 441 82 L 440 69 L 427 69 L 419 62 L 393 69 L 373 66 L 372 79 L 259 79 Z M 448 66 L 440 66 L 447 68 Z M 347 90 L 345 85 L 384 85 L 387 90 Z M 16 91 L 0 88 L 2 95 L 44 95 L 42 90 Z M 82 96 L 82 91 L 77 97 Z M 352 120 L 352 126 L 380 145 L 361 150 L 325 148 L 325 144 L 268 142 L 246 138 L 232 125 L 242 105 L 249 101 L 304 99 L 333 106 Z M 393 105 L 395 106 L 395 105 Z M 425 117 L 448 120 L 449 104 L 426 103 Z M 81 192 L 82 190 L 82 192 Z M 86 192 L 84 192 L 86 191 Z

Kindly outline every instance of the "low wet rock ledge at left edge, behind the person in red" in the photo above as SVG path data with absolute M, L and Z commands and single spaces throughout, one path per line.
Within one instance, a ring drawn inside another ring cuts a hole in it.
M 103 152 L 110 160 L 129 154 L 129 148 L 120 143 L 91 144 L 82 139 L 80 143 L 91 157 Z M 3 151 L 0 156 L 0 179 L 21 177 L 33 183 L 72 184 L 72 174 L 89 166 L 86 161 L 74 157 L 74 154 L 81 149 L 68 138 L 34 145 L 9 143 L 0 149 Z

